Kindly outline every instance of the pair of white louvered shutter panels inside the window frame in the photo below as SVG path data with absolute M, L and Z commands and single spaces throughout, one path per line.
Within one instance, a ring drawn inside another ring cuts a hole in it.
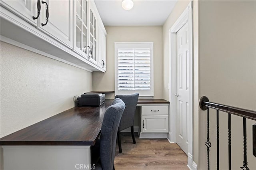
M 150 48 L 118 48 L 118 90 L 150 90 Z

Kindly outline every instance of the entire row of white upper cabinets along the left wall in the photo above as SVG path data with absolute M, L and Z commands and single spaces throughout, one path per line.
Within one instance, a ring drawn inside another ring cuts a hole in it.
M 106 30 L 93 0 L 0 4 L 2 41 L 88 71 L 106 71 Z

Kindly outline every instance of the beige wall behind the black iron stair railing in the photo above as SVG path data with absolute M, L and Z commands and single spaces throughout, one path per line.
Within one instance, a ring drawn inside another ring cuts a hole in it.
M 256 110 L 256 2 L 199 1 L 199 96 L 210 101 Z M 195 68 L 197 69 L 197 68 Z M 195 101 L 196 102 L 196 101 Z M 197 114 L 197 113 L 194 113 Z M 198 111 L 199 169 L 206 169 L 206 111 Z M 232 169 L 243 160 L 242 118 L 232 116 Z M 247 122 L 248 167 L 252 155 L 252 124 Z M 220 169 L 228 169 L 228 114 L 220 113 Z M 210 111 L 210 165 L 216 168 L 216 111 Z

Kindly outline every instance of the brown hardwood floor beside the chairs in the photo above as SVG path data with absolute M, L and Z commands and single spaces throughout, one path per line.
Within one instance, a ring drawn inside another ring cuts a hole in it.
M 188 170 L 188 157 L 175 143 L 167 139 L 139 139 L 136 144 L 130 133 L 122 133 L 122 153 L 116 143 L 116 170 Z

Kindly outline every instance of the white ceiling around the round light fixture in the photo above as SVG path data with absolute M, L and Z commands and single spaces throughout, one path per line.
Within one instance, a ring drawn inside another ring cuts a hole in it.
M 95 0 L 104 26 L 162 26 L 177 0 L 133 0 L 124 10 L 122 0 Z

